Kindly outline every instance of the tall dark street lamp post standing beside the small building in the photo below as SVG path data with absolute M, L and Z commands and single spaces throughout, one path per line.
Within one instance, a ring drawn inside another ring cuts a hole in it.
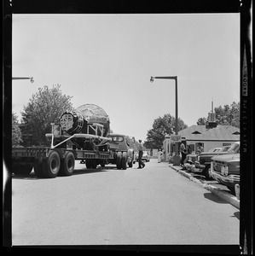
M 175 130 L 176 135 L 178 135 L 178 90 L 177 90 L 177 76 L 171 76 L 171 77 L 151 77 L 150 81 L 153 83 L 154 79 L 173 79 L 176 81 L 176 124 L 175 124 Z M 178 154 L 178 143 L 175 145 L 175 155 L 173 157 L 173 165 L 174 166 L 180 166 L 180 156 Z

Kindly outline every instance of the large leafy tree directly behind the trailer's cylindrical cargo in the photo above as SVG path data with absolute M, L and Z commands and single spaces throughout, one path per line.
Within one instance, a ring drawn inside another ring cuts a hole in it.
M 60 118 L 61 113 L 72 110 L 72 96 L 63 95 L 61 85 L 47 85 L 38 88 L 38 92 L 32 95 L 30 102 L 21 113 L 22 120 L 20 130 L 24 146 L 42 146 L 47 144 L 46 133 L 51 132 L 50 123 Z

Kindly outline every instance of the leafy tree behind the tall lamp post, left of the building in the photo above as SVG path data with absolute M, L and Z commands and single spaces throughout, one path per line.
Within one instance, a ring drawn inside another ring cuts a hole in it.
M 170 113 L 154 119 L 153 128 L 148 131 L 144 146 L 146 148 L 161 148 L 165 137 L 175 132 L 175 121 L 176 119 Z M 178 126 L 179 131 L 188 127 L 182 119 L 178 119 Z

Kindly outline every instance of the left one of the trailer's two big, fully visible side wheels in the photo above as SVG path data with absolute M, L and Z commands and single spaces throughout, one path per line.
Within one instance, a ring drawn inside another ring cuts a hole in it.
M 55 151 L 49 153 L 48 158 L 43 160 L 44 177 L 56 177 L 61 169 L 61 160 L 59 154 Z

